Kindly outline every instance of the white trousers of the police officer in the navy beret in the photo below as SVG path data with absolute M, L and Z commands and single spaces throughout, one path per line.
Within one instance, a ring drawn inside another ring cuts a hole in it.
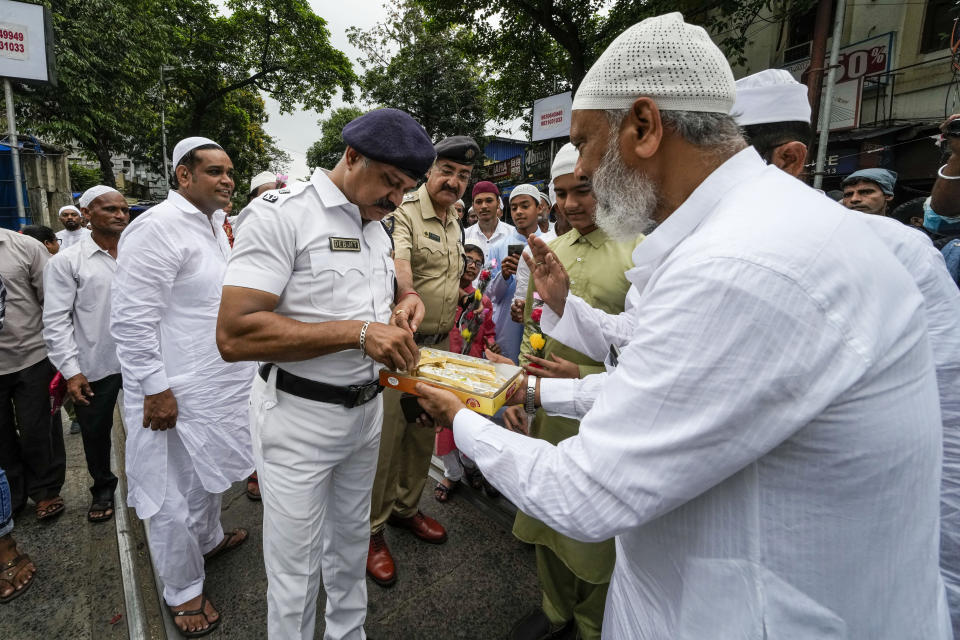
M 325 640 L 364 640 L 370 490 L 383 402 L 305 400 L 257 376 L 250 395 L 253 455 L 263 496 L 270 638 L 312 640 L 322 575 Z M 321 573 L 322 570 L 322 573 Z

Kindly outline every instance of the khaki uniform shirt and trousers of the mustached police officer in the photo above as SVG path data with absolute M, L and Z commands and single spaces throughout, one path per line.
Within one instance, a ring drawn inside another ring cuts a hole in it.
M 456 209 L 447 209 L 444 223 L 437 217 L 426 185 L 407 194 L 393 214 L 393 250 L 395 259 L 410 262 L 413 287 L 426 309 L 414 336 L 417 344 L 447 349 L 463 272 Z M 371 497 L 371 533 L 381 531 L 391 514 L 409 518 L 417 513 L 435 436 L 433 429 L 407 423 L 400 409 L 399 391 L 386 389 L 383 403 L 380 458 Z

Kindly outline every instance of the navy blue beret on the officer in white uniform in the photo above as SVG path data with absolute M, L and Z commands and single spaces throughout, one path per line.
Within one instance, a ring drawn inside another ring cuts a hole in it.
M 433 164 L 436 153 L 430 136 L 406 111 L 374 109 L 343 128 L 343 141 L 359 153 L 400 169 L 419 180 Z

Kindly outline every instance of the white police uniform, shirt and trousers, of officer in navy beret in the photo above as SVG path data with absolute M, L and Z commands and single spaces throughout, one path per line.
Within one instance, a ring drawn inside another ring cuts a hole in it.
M 381 224 L 364 222 L 322 170 L 309 183 L 268 191 L 245 215 L 224 285 L 277 295 L 276 313 L 302 322 L 389 322 L 390 238 Z M 250 429 L 271 638 L 314 637 L 321 578 L 324 638 L 364 637 L 370 487 L 383 419 L 379 387 L 369 383 L 380 368 L 347 349 L 267 363 L 254 378 Z M 318 400 L 316 389 L 329 390 L 323 385 L 362 391 L 345 404 Z

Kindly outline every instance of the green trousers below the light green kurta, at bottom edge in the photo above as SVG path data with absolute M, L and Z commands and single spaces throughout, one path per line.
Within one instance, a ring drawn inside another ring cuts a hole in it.
M 593 584 L 578 578 L 549 547 L 538 544 L 537 576 L 543 612 L 553 624 L 575 620 L 580 638 L 600 640 L 609 582 Z

